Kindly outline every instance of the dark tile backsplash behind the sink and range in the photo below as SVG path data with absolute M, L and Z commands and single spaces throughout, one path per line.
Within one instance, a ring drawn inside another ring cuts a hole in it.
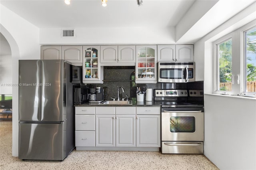
M 155 84 L 136 84 L 135 66 L 105 66 L 103 84 L 87 84 L 89 87 L 103 87 L 104 99 L 117 99 L 119 87 L 124 87 L 124 93 L 120 90 L 120 98 L 128 95 L 129 99 L 136 97 L 136 87 L 146 86 L 150 89 L 203 89 L 203 81 L 193 83 L 155 83 Z M 153 92 L 153 90 L 152 90 Z M 144 95 L 144 98 L 146 96 Z M 153 97 L 153 94 L 152 94 Z

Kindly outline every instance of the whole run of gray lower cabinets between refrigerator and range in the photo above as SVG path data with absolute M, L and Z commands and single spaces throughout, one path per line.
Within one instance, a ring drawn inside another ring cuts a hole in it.
M 76 107 L 75 117 L 78 150 L 160 148 L 160 107 Z

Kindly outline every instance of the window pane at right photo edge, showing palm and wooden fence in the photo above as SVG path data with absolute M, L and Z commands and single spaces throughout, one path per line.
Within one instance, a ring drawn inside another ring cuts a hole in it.
M 256 92 L 256 27 L 244 32 L 245 85 L 244 92 Z

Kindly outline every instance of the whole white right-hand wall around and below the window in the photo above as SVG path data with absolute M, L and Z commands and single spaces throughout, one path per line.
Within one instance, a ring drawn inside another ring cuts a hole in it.
M 210 94 L 213 42 L 247 23 L 256 24 L 255 7 L 256 3 L 194 44 L 196 80 L 204 80 L 204 155 L 220 169 L 256 169 L 256 100 Z

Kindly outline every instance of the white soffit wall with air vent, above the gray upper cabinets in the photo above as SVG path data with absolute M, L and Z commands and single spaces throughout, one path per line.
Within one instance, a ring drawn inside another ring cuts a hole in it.
M 75 38 L 62 38 L 61 28 L 40 29 L 40 44 L 175 43 L 174 28 L 76 28 Z

